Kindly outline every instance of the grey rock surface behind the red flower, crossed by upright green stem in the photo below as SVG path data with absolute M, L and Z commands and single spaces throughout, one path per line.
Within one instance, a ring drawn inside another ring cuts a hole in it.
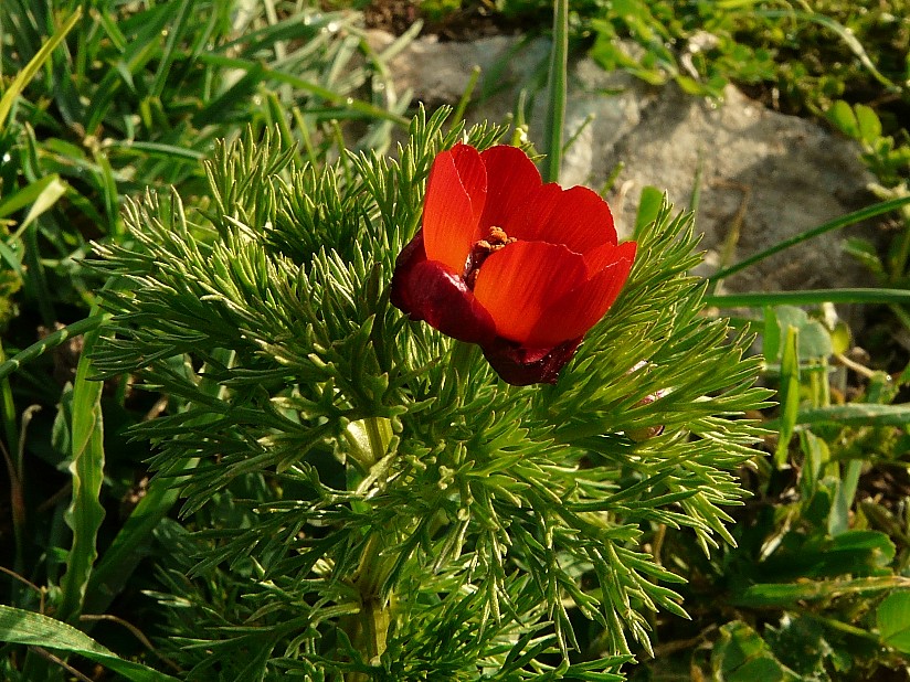
M 393 39 L 373 33 L 377 47 Z M 520 94 L 530 138 L 541 139 L 549 44 L 514 36 L 469 43 L 422 38 L 392 62 L 399 92 L 411 88 L 430 107 L 457 103 L 475 66 L 482 79 L 468 120 L 502 121 Z M 588 58 L 570 67 L 563 184 L 603 187 L 621 233 L 634 223 L 642 188 L 666 191 L 678 209 L 689 205 L 700 177 L 697 228 L 708 249 L 705 273 L 780 243 L 871 203 L 871 181 L 856 146 L 812 121 L 772 111 L 728 87 L 723 103 L 652 87 L 625 73 L 607 73 Z M 851 228 L 854 232 L 861 230 Z M 870 227 L 866 227 L 866 232 Z M 762 262 L 724 285 L 730 290 L 868 286 L 868 276 L 844 255 L 844 231 L 815 238 Z

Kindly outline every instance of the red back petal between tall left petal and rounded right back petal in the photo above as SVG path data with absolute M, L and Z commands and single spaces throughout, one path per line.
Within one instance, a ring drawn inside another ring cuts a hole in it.
M 480 152 L 487 168 L 487 203 L 480 230 L 496 225 L 509 232 L 509 221 L 541 185 L 540 172 L 518 147 L 499 145 Z

